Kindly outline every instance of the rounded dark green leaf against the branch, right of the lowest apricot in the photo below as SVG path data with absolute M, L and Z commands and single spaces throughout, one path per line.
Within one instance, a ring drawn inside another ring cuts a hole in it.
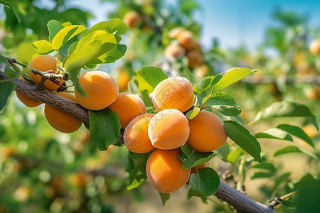
M 191 197 L 205 198 L 214 195 L 220 186 L 220 178 L 212 168 L 203 168 L 191 174 L 187 199 Z

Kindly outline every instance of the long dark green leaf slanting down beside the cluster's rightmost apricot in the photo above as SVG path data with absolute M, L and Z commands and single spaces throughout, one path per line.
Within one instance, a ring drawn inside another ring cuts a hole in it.
M 225 132 L 238 146 L 261 163 L 261 147 L 257 139 L 235 121 L 224 121 Z

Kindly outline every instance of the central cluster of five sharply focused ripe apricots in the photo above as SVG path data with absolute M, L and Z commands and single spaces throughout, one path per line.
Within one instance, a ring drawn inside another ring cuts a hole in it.
M 183 114 L 194 102 L 192 84 L 184 77 L 161 81 L 151 101 L 158 112 L 132 119 L 124 129 L 124 145 L 134 153 L 151 152 L 147 178 L 159 192 L 170 193 L 183 187 L 192 172 L 178 158 L 180 147 L 188 143 L 194 151 L 206 153 L 223 146 L 227 136 L 223 121 L 210 111 L 200 111 L 191 120 Z

